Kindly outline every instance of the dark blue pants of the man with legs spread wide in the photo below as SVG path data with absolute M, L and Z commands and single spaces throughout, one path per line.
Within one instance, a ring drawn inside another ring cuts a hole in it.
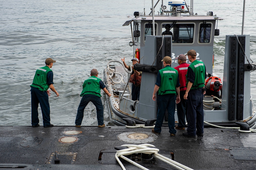
M 83 112 L 85 107 L 88 105 L 89 102 L 92 102 L 96 107 L 97 111 L 97 120 L 98 125 L 103 125 L 103 105 L 101 98 L 99 96 L 95 96 L 93 94 L 85 94 L 83 95 L 81 102 L 77 109 L 77 116 L 76 116 L 76 125 L 81 125 L 83 120 Z

